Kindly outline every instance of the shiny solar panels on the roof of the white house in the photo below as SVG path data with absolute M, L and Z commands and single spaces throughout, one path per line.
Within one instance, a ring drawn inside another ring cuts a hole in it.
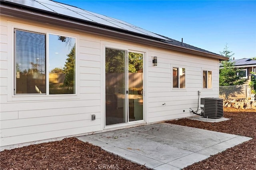
M 165 39 L 164 37 L 127 23 L 125 21 L 117 20 L 108 16 L 101 14 L 96 14 L 94 12 L 89 12 L 81 8 L 76 8 L 74 6 L 69 6 L 52 0 L 6 0 L 7 2 L 12 2 L 14 4 L 20 4 L 22 6 L 27 6 L 30 8 L 36 8 L 38 10 L 43 10 L 51 12 L 58 15 L 68 16 L 84 21 L 90 21 L 92 23 L 98 23 L 101 25 L 106 25 L 125 31 L 130 31 L 134 33 L 139 33 L 142 35 L 147 35 L 150 37 L 155 37 L 158 39 Z

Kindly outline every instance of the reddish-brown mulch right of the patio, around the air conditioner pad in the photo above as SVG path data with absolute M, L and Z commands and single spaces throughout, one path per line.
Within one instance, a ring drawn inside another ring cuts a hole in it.
M 184 170 L 256 170 L 256 111 L 225 108 L 224 117 L 230 120 L 219 123 L 190 119 L 167 122 L 253 138 L 206 160 L 187 166 Z

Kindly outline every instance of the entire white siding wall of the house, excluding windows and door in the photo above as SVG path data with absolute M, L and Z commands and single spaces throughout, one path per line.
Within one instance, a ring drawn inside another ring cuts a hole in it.
M 0 24 L 0 145 L 40 141 L 104 130 L 104 45 L 146 52 L 146 118 L 148 123 L 192 116 L 200 97 L 218 97 L 218 60 L 147 47 L 68 29 L 14 20 L 40 29 L 77 34 L 78 95 L 74 98 L 49 96 L 17 100 L 12 96 L 12 29 L 7 18 Z M 10 35 L 8 35 L 10 34 Z M 158 65 L 152 66 L 152 56 Z M 172 66 L 186 68 L 186 89 L 172 88 Z M 212 89 L 202 89 L 202 69 L 213 72 Z M 31 100 L 32 99 L 32 100 Z M 162 104 L 166 103 L 166 106 Z M 183 110 L 185 110 L 183 112 Z M 91 114 L 96 120 L 91 121 Z

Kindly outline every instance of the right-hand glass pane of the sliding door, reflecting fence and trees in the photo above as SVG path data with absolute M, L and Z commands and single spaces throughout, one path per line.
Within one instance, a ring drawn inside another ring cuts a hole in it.
M 129 121 L 143 120 L 143 54 L 128 55 Z

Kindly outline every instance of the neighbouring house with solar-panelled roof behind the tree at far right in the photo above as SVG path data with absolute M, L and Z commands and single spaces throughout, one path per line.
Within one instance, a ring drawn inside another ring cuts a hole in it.
M 231 60 L 231 62 L 234 62 L 235 68 L 240 68 L 241 71 L 238 72 L 238 74 L 242 75 L 244 79 L 247 79 L 248 81 L 246 84 L 250 82 L 250 72 L 256 72 L 256 60 L 255 59 L 236 59 Z M 222 64 L 220 64 L 220 69 L 222 69 Z

